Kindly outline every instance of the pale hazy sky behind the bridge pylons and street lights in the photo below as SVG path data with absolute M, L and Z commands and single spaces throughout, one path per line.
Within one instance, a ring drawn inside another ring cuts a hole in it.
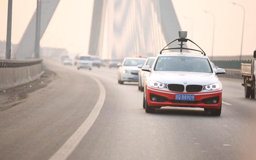
M 208 55 L 212 50 L 213 17 L 215 16 L 214 55 L 239 55 L 242 34 L 242 8 L 245 8 L 244 44 L 242 53 L 252 54 L 256 48 L 256 0 L 172 0 L 182 30 L 193 33 Z M 68 49 L 69 53 L 88 50 L 93 0 L 60 0 L 41 39 L 42 47 Z M 0 0 L 0 41 L 6 39 L 8 0 Z M 36 9 L 36 0 L 13 0 L 12 43 L 18 43 Z M 185 19 L 184 16 L 191 18 Z

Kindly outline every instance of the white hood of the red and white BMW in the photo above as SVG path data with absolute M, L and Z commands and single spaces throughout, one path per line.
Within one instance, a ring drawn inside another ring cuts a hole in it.
M 215 73 L 180 72 L 180 71 L 152 71 L 150 80 L 155 80 L 164 84 L 184 83 L 209 85 L 218 82 Z

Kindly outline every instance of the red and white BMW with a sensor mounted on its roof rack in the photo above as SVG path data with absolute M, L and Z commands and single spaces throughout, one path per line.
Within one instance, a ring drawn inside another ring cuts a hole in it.
M 143 108 L 152 113 L 164 106 L 199 107 L 213 116 L 219 116 L 222 111 L 222 83 L 217 74 L 224 74 L 225 70 L 218 68 L 215 73 L 209 58 L 199 46 L 201 50 L 183 48 L 184 42 L 192 41 L 180 32 L 180 38 L 172 42 L 181 42 L 181 47 L 163 48 L 151 69 L 149 65 L 142 67 L 142 70 L 149 72 L 144 80 Z M 163 53 L 171 49 L 180 52 Z

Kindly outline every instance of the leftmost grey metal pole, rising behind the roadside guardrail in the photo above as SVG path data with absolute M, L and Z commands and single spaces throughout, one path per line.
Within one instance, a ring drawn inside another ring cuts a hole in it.
M 12 0 L 8 0 L 5 59 L 11 59 L 11 25 L 12 25 Z

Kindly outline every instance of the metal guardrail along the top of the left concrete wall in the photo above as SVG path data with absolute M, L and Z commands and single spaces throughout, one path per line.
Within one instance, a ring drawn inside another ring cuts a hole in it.
M 17 68 L 23 66 L 31 66 L 42 63 L 42 59 L 29 59 L 29 60 L 10 60 L 0 59 L 0 68 Z

